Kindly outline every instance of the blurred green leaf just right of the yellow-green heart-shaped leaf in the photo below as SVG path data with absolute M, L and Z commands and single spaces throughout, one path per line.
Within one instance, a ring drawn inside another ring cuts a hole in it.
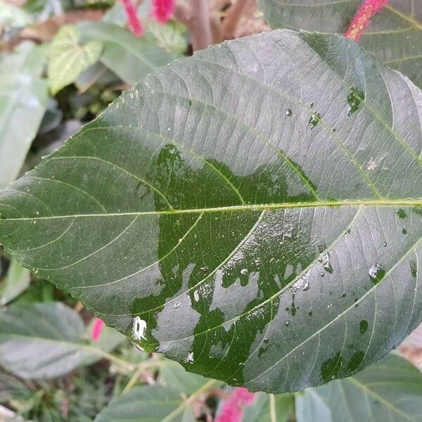
M 152 37 L 134 37 L 131 32 L 106 22 L 79 23 L 84 39 L 103 43 L 101 62 L 128 84 L 169 63 L 170 55 Z

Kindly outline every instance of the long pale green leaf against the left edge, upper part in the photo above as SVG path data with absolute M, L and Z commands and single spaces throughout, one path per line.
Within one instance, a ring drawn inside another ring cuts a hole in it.
M 18 177 L 48 103 L 45 48 L 30 41 L 0 53 L 0 188 Z

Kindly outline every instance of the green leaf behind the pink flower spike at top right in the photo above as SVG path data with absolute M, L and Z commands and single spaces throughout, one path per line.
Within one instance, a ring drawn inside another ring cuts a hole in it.
M 273 28 L 337 32 L 349 26 L 362 0 L 260 0 Z M 422 87 L 422 2 L 390 0 L 359 40 L 385 64 Z

